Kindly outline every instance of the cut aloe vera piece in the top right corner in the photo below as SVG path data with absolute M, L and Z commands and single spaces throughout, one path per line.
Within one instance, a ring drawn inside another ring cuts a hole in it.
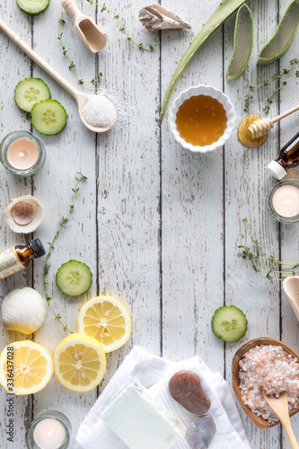
M 278 23 L 271 40 L 261 48 L 258 64 L 271 64 L 282 57 L 295 38 L 299 25 L 299 0 L 293 0 Z

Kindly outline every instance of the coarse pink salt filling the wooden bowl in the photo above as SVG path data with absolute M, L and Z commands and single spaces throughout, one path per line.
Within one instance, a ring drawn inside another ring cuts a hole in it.
M 287 392 L 288 409 L 299 405 L 299 363 L 281 346 L 261 345 L 251 348 L 239 362 L 242 400 L 269 424 L 278 421 L 263 392 L 279 396 Z

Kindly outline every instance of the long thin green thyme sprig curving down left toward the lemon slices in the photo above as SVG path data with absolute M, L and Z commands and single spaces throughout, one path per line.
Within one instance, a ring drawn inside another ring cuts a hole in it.
M 70 216 L 70 214 L 73 213 L 74 211 L 74 207 L 75 207 L 75 203 L 76 200 L 78 199 L 78 191 L 79 191 L 79 184 L 80 182 L 82 182 L 83 180 L 87 180 L 87 177 L 84 176 L 84 174 L 77 172 L 78 176 L 75 177 L 76 183 L 75 183 L 75 187 L 72 189 L 73 192 L 75 193 L 75 198 L 72 202 L 72 204 L 69 205 L 68 207 L 68 211 L 66 216 L 62 216 L 59 220 L 59 227 L 57 230 L 57 233 L 54 235 L 53 239 L 51 242 L 48 242 L 48 252 L 46 255 L 46 260 L 45 260 L 45 266 L 44 266 L 44 277 L 43 277 L 43 286 L 44 286 L 44 292 L 46 295 L 46 300 L 48 303 L 49 308 L 51 309 L 51 311 L 54 313 L 55 315 L 55 319 L 62 325 L 62 327 L 64 328 L 65 331 L 73 333 L 72 330 L 69 330 L 67 325 L 63 323 L 63 321 L 61 321 L 61 315 L 60 313 L 56 313 L 53 305 L 52 305 L 52 297 L 48 295 L 48 280 L 47 280 L 47 276 L 48 276 L 48 272 L 50 269 L 50 265 L 48 264 L 48 259 L 51 255 L 52 250 L 54 250 L 54 242 L 56 241 L 59 233 L 61 233 L 64 225 L 66 225 L 66 223 L 68 223 L 68 217 Z

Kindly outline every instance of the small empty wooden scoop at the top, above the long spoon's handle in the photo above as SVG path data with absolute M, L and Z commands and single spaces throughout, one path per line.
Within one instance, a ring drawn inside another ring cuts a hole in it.
M 101 51 L 106 45 L 106 38 L 98 25 L 93 22 L 92 18 L 88 15 L 80 13 L 74 0 L 62 0 L 61 4 L 65 8 L 66 13 L 73 17 L 75 21 L 75 31 L 84 41 L 86 47 L 92 51 L 92 53 Z

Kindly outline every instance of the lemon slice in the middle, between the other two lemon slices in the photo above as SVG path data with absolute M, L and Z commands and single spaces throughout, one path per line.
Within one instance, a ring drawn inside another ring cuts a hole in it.
M 74 392 L 89 392 L 99 385 L 107 366 L 101 343 L 80 333 L 63 339 L 53 360 L 58 382 Z

